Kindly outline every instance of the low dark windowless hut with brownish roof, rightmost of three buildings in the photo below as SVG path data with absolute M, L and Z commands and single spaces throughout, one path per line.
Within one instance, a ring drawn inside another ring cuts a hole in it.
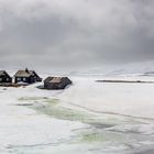
M 65 89 L 67 85 L 70 85 L 72 80 L 68 77 L 47 77 L 44 80 L 45 89 Z

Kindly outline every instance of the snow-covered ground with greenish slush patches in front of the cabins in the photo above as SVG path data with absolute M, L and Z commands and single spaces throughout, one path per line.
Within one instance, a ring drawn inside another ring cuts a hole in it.
M 139 154 L 153 152 L 151 76 L 73 77 L 65 90 L 0 87 L 0 154 Z

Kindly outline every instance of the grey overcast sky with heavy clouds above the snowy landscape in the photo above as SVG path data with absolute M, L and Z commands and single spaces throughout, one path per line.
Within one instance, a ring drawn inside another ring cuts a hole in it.
M 89 68 L 154 59 L 154 0 L 0 0 L 0 65 Z

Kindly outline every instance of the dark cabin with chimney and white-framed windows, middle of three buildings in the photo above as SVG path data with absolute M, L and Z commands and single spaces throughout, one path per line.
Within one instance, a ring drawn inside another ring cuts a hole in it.
M 34 72 L 29 70 L 18 70 L 14 75 L 14 82 L 25 82 L 25 84 L 33 84 L 36 81 L 42 81 L 42 78 Z

